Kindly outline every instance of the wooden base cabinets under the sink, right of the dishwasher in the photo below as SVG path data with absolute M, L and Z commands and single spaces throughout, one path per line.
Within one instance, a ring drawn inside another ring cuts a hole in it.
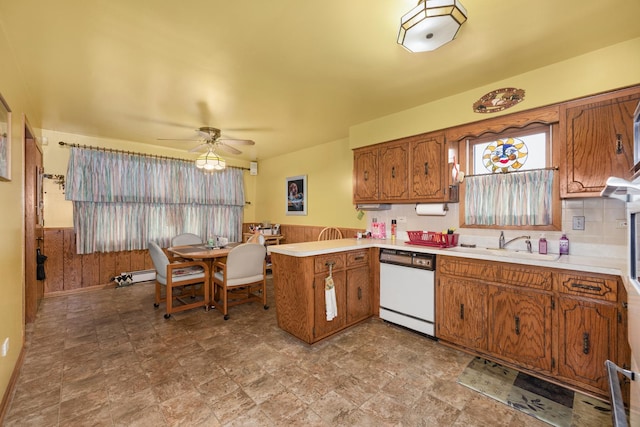
M 615 276 L 446 256 L 436 271 L 444 344 L 600 397 L 605 360 L 629 366 Z

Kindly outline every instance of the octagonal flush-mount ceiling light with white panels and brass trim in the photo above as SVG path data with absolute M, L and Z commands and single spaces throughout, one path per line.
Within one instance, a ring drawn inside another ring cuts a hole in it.
M 466 20 L 459 0 L 420 0 L 400 19 L 398 43 L 410 52 L 436 50 L 452 41 Z

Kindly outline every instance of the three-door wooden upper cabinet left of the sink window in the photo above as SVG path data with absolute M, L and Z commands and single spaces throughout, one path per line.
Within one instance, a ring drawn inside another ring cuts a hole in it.
M 449 199 L 444 135 L 423 134 L 357 148 L 354 203 L 443 202 Z

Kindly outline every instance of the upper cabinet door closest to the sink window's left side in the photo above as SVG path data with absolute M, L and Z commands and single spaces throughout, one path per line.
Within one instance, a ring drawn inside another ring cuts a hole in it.
M 443 135 L 411 143 L 410 197 L 419 201 L 446 201 L 447 164 Z

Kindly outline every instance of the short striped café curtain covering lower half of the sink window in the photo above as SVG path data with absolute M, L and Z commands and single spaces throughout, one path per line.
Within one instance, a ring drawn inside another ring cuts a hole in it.
M 532 170 L 465 178 L 468 225 L 549 225 L 555 171 Z

